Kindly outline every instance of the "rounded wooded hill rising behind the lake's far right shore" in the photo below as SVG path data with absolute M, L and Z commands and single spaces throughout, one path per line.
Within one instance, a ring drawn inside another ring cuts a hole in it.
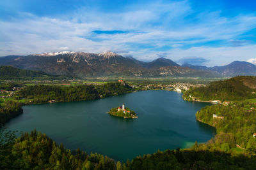
M 202 101 L 226 100 L 235 101 L 256 98 L 256 77 L 237 76 L 228 80 L 213 81 L 206 87 L 191 88 L 184 92 L 184 99 L 191 97 Z

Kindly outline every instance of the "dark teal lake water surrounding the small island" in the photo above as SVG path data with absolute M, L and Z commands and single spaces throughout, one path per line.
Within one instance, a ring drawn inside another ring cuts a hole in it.
M 106 113 L 122 103 L 138 118 Z M 196 111 L 207 105 L 184 101 L 177 92 L 147 90 L 94 101 L 24 106 L 24 113 L 5 127 L 36 129 L 70 150 L 80 148 L 125 162 L 158 149 L 188 148 L 211 139 L 215 129 L 195 119 Z

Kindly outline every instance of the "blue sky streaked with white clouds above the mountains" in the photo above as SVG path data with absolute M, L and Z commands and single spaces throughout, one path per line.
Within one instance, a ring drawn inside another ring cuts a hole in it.
M 0 1 L 0 56 L 63 50 L 256 64 L 256 1 Z

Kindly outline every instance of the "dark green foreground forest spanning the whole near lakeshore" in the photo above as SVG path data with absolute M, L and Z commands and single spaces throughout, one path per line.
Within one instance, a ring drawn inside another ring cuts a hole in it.
M 32 131 L 15 139 L 14 133 L 1 131 L 0 169 L 254 169 L 256 157 L 195 145 L 191 149 L 157 151 L 126 163 L 86 153 L 70 151 L 45 134 Z

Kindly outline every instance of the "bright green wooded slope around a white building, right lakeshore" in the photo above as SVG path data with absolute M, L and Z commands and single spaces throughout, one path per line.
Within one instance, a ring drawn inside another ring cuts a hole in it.
M 206 106 L 196 113 L 196 118 L 216 127 L 214 143 L 235 148 L 236 144 L 246 151 L 256 151 L 256 104 L 250 102 Z M 213 114 L 218 117 L 213 118 Z M 221 139 L 219 139 L 221 138 Z

